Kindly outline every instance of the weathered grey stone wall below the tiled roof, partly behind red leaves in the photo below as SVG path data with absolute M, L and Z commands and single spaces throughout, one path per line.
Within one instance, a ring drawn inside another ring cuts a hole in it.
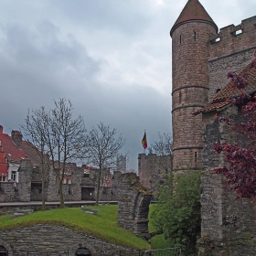
M 240 112 L 230 107 L 219 113 L 229 115 L 234 122 L 240 121 Z M 201 239 L 198 245 L 201 252 L 208 255 L 255 255 L 256 223 L 251 200 L 235 200 L 233 191 L 225 191 L 226 178 L 214 172 L 223 167 L 223 154 L 213 150 L 213 143 L 237 141 L 225 123 L 214 122 L 214 112 L 204 113 L 205 123 L 203 150 L 204 170 L 202 172 L 201 195 Z

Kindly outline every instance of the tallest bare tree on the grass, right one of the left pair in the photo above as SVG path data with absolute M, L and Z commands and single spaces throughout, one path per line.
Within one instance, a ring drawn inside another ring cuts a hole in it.
M 46 136 L 59 181 L 60 208 L 64 208 L 62 184 L 66 164 L 84 157 L 87 130 L 80 115 L 76 119 L 72 118 L 73 107 L 70 101 L 61 98 L 54 102 L 55 109 L 50 112 L 50 129 Z

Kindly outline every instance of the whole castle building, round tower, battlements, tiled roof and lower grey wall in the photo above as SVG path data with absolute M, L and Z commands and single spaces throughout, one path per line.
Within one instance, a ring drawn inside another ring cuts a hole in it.
M 214 173 L 224 165 L 223 155 L 215 154 L 212 144 L 235 140 L 213 119 L 220 112 L 240 121 L 240 110 L 225 101 L 233 96 L 227 94 L 227 73 L 240 73 L 253 60 L 256 16 L 218 29 L 199 1 L 188 0 L 170 35 L 174 168 L 203 167 L 201 255 L 255 255 L 255 212 L 249 201 L 235 202 L 234 194 L 223 190 L 225 179 Z M 255 74 L 250 83 L 250 92 L 256 91 Z

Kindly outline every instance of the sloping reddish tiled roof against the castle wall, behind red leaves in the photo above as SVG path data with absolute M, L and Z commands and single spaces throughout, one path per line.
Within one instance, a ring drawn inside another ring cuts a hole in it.
M 251 68 L 251 64 L 249 64 L 240 72 L 240 76 L 243 74 L 247 75 L 246 80 L 248 82 L 245 89 L 233 88 L 233 82 L 229 81 L 227 85 L 225 85 L 218 93 L 215 94 L 208 105 L 199 109 L 197 112 L 193 112 L 193 114 L 197 115 L 200 112 L 218 111 L 230 105 L 227 99 L 238 97 L 242 93 L 251 94 L 256 92 L 256 67 Z

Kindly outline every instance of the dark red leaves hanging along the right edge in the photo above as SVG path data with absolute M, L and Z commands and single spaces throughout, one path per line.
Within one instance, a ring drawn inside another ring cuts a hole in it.
M 256 69 L 255 59 L 251 62 L 251 69 Z M 248 85 L 247 74 L 237 75 L 229 72 L 228 78 L 233 81 L 233 88 L 244 89 Z M 224 153 L 227 166 L 215 170 L 217 174 L 226 176 L 227 189 L 236 192 L 236 199 L 242 197 L 256 197 L 256 96 L 242 93 L 240 97 L 228 99 L 235 105 L 242 106 L 242 116 L 247 118 L 244 123 L 231 124 L 228 117 L 215 114 L 215 121 L 225 122 L 239 136 L 247 138 L 243 146 L 239 144 L 213 144 L 214 150 Z

